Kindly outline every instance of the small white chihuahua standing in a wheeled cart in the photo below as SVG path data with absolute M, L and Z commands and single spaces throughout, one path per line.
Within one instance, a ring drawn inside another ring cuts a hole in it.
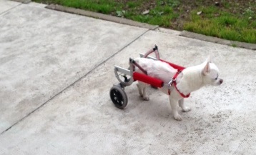
M 134 60 L 142 67 L 142 69 L 147 71 L 148 76 L 161 79 L 164 81 L 164 84 L 168 84 L 175 74 L 177 74 L 177 69 L 172 68 L 172 66 L 169 66 L 169 64 L 162 61 L 155 61 L 147 58 L 137 58 Z M 135 67 L 135 71 L 142 73 L 137 67 Z M 192 91 L 200 89 L 202 86 L 218 86 L 223 82 L 223 80 L 219 78 L 219 69 L 211 62 L 210 58 L 200 65 L 187 67 L 176 76 L 176 81 L 174 81 L 176 82 L 176 88 L 174 84 L 172 84 L 170 91 L 166 87 L 159 89 L 169 95 L 172 114 L 174 119 L 178 121 L 182 120 L 182 117 L 177 111 L 178 105 L 182 108 L 182 111 L 187 112 L 191 110 L 189 107 L 184 106 L 184 96 L 189 95 Z M 149 86 L 149 84 L 138 81 L 137 87 L 139 89 L 139 95 L 142 96 L 144 100 L 149 100 L 146 92 L 147 86 Z

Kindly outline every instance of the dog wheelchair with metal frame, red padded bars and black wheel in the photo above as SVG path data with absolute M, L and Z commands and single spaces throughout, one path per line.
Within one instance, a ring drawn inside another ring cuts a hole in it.
M 155 58 L 152 56 L 149 56 L 149 54 L 155 53 Z M 155 61 L 163 61 L 170 66 L 172 66 L 174 69 L 177 69 L 177 71 L 182 71 L 185 69 L 183 66 L 179 66 L 177 64 L 172 64 L 170 62 L 164 61 L 159 58 L 159 51 L 157 45 L 154 46 L 153 49 L 147 51 L 146 54 L 139 54 L 140 57 L 153 59 Z M 135 66 L 137 66 L 144 74 L 141 74 L 139 72 L 134 71 Z M 146 84 L 150 84 L 153 87 L 162 88 L 166 87 L 168 91 L 170 92 L 171 86 L 176 80 L 176 78 L 172 78 L 168 84 L 164 84 L 164 81 L 147 76 L 147 71 L 144 71 L 139 64 L 136 63 L 133 59 L 129 59 L 129 68 L 124 69 L 120 66 L 114 66 L 114 74 L 117 78 L 117 80 L 120 82 L 117 85 L 112 86 L 112 88 L 109 91 L 109 96 L 114 104 L 119 109 L 124 109 L 127 106 L 128 98 L 127 94 L 124 91 L 124 88 L 126 86 L 132 85 L 134 81 L 142 81 Z

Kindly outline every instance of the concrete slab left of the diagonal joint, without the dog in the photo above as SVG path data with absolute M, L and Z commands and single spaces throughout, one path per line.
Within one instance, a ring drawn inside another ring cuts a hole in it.
M 34 4 L 0 18 L 0 133 L 147 31 Z

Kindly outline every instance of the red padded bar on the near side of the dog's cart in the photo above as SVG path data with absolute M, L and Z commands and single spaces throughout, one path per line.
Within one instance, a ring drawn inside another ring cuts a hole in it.
M 164 84 L 164 82 L 162 80 L 159 80 L 159 79 L 153 78 L 151 76 L 147 76 L 146 74 L 141 74 L 138 72 L 133 73 L 133 79 L 142 81 L 146 84 L 150 84 L 150 85 L 158 87 L 158 88 L 162 87 Z

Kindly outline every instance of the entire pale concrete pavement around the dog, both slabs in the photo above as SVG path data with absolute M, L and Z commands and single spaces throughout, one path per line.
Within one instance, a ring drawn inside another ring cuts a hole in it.
M 0 154 L 255 154 L 255 51 L 41 4 L 0 6 Z M 142 101 L 127 87 L 124 110 L 109 98 L 114 65 L 154 44 L 182 66 L 212 54 L 225 81 L 192 93 L 182 121 L 154 89 Z

